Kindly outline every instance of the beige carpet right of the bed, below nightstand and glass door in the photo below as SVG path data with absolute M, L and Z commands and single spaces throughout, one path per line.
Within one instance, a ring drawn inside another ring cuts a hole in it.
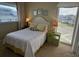
M 36 53 L 37 57 L 73 57 L 71 46 L 60 43 L 58 47 L 45 44 Z

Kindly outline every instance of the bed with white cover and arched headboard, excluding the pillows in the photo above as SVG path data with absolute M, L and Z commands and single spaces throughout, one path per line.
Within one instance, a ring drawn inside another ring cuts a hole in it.
M 48 22 L 43 17 L 33 18 L 33 23 L 47 25 Z M 33 57 L 46 40 L 47 27 L 43 32 L 32 31 L 29 28 L 8 33 L 4 38 L 4 44 L 19 52 L 23 52 L 25 57 Z M 17 49 L 14 49 L 17 48 Z M 22 54 L 22 53 L 21 53 Z

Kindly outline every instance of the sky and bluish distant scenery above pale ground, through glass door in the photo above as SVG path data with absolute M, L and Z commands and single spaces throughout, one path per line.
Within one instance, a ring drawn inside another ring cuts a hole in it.
M 59 21 L 69 25 L 75 24 L 77 7 L 74 8 L 59 8 Z

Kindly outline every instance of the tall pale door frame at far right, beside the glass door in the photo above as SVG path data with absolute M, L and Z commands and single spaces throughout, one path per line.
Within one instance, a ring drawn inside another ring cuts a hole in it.
M 79 7 L 77 11 L 77 17 L 76 17 L 76 24 L 75 24 L 75 29 L 74 29 L 74 35 L 73 35 L 73 42 L 72 42 L 72 51 L 76 52 L 77 47 L 78 47 L 78 31 L 79 31 Z

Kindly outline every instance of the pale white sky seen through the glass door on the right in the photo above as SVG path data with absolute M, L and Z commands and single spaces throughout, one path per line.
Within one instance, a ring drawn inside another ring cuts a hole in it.
M 78 7 L 59 8 L 59 15 L 76 15 Z

